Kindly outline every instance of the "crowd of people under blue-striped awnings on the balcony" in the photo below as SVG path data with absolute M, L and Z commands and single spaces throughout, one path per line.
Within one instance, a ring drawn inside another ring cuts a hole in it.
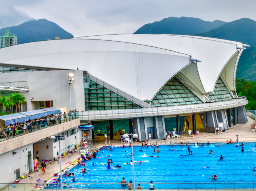
M 4 138 L 10 139 L 10 136 L 14 138 L 15 136 L 18 137 L 20 133 L 27 134 L 31 133 L 33 131 L 40 130 L 41 127 L 48 127 L 53 126 L 55 124 L 60 124 L 61 120 L 63 119 L 64 122 L 70 121 L 73 119 L 76 119 L 77 117 L 77 110 L 69 111 L 68 115 L 66 112 L 62 115 L 62 112 L 60 114 L 51 115 L 49 118 L 47 116 L 36 118 L 34 120 L 28 120 L 27 122 L 23 123 L 15 123 L 10 124 L 5 128 L 5 131 L 0 127 L 0 138 L 1 135 L 3 135 Z M 49 120 L 48 120 L 49 119 Z M 56 121 L 57 120 L 57 121 Z

